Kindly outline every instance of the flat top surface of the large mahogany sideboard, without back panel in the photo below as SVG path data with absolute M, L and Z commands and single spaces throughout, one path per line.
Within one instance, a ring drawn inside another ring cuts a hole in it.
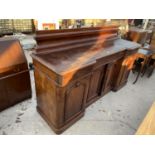
M 81 67 L 94 63 L 97 59 L 116 54 L 120 51 L 134 50 L 140 45 L 127 40 L 118 39 L 111 47 L 99 50 L 87 49 L 85 51 L 74 50 L 67 52 L 48 53 L 43 55 L 32 55 L 33 58 L 50 68 L 57 74 L 63 75 L 67 72 L 77 70 Z

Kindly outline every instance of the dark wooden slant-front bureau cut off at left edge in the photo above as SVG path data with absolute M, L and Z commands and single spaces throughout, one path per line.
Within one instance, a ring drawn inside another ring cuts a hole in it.
M 30 97 L 30 75 L 19 41 L 0 39 L 0 111 Z

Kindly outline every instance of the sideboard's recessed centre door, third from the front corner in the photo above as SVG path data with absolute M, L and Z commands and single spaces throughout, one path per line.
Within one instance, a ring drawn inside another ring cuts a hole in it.
M 113 71 L 115 68 L 115 63 L 109 63 L 106 65 L 105 76 L 102 84 L 102 94 L 106 94 L 113 87 L 113 79 L 115 78 L 113 75 Z

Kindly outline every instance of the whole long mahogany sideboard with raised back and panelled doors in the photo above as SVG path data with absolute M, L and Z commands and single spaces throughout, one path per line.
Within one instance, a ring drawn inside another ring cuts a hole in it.
M 57 134 L 87 106 L 126 84 L 140 47 L 120 39 L 117 26 L 42 30 L 36 40 L 37 110 Z

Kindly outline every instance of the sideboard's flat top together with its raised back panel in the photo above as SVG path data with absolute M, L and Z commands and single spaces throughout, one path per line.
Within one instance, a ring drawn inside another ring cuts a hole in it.
M 62 76 L 103 57 L 140 47 L 137 43 L 120 39 L 116 26 L 38 31 L 36 40 L 38 47 L 32 57 Z

